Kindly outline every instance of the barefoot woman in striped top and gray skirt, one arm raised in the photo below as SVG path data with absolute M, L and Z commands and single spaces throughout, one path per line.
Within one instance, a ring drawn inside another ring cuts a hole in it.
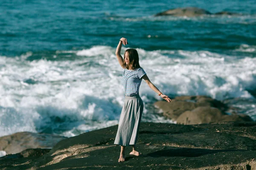
M 148 79 L 147 74 L 140 67 L 139 55 L 135 49 L 127 49 L 122 58 L 120 51 L 122 44 L 128 44 L 125 38 L 121 38 L 116 48 L 116 57 L 119 64 L 124 68 L 122 81 L 125 90 L 125 104 L 119 119 L 118 130 L 114 144 L 121 145 L 121 153 L 118 162 L 125 161 L 125 146 L 131 145 L 130 155 L 139 156 L 141 153 L 135 149 L 139 133 L 140 120 L 143 112 L 143 101 L 139 95 L 141 80 L 144 79 L 148 86 L 167 102 L 171 99 L 163 95 Z

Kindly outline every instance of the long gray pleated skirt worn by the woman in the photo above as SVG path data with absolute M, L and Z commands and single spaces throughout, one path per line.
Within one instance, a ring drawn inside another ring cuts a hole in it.
M 125 104 L 120 115 L 114 144 L 121 146 L 136 144 L 143 107 L 144 104 L 140 95 L 125 96 Z

